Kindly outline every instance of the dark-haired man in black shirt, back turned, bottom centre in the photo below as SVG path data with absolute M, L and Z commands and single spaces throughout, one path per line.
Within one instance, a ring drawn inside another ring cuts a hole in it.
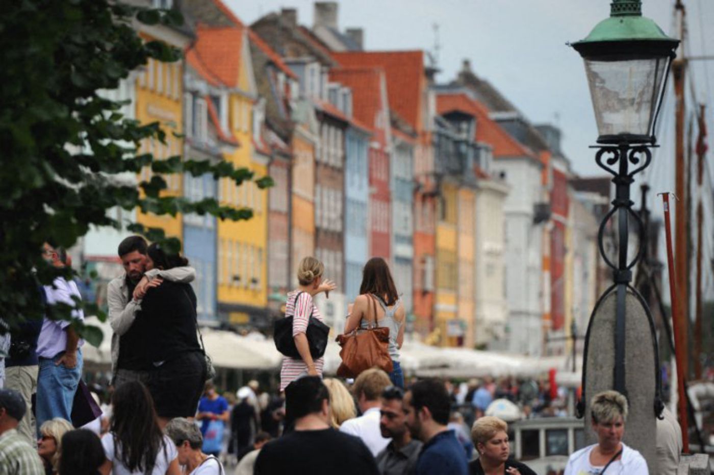
M 378 475 L 362 441 L 328 424 L 329 394 L 318 376 L 293 381 L 285 395 L 287 417 L 295 421 L 295 430 L 263 446 L 254 474 Z

